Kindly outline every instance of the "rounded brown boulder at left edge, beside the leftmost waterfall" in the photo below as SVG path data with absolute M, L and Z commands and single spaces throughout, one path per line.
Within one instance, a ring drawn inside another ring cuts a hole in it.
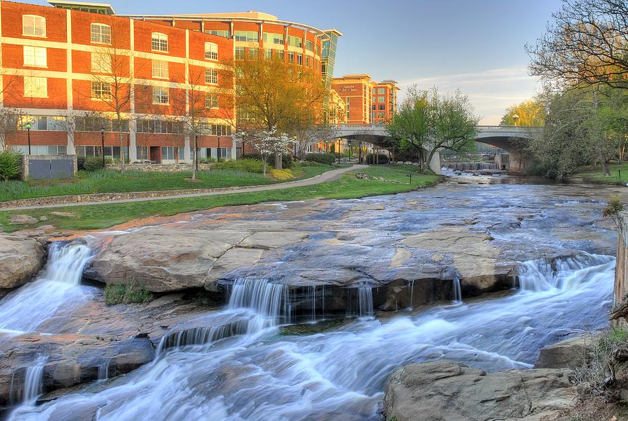
M 0 234 L 0 290 L 24 285 L 39 272 L 45 249 L 36 239 Z

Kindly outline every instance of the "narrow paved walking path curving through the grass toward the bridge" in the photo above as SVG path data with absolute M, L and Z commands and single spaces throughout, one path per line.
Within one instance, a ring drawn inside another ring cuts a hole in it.
M 311 186 L 313 184 L 320 184 L 324 182 L 331 182 L 335 179 L 339 179 L 345 172 L 352 170 L 360 170 L 361 168 L 367 168 L 368 165 L 352 165 L 349 168 L 338 168 L 337 170 L 331 170 L 323 172 L 321 175 L 315 177 L 296 180 L 294 182 L 285 182 L 277 184 L 264 184 L 263 186 L 243 187 L 241 189 L 225 188 L 224 190 L 208 191 L 207 193 L 188 193 L 179 195 L 157 196 L 157 197 L 145 197 L 145 198 L 131 198 L 121 200 L 107 200 L 100 202 L 73 202 L 73 203 L 59 203 L 52 205 L 33 205 L 33 206 L 16 206 L 16 207 L 1 207 L 0 212 L 3 211 L 19 211 L 29 209 L 48 209 L 54 207 L 71 207 L 71 206 L 91 206 L 91 205 L 107 205 L 110 203 L 128 203 L 128 202 L 147 202 L 149 200 L 168 200 L 168 199 L 180 199 L 180 198 L 198 198 L 202 196 L 214 196 L 221 194 L 234 194 L 234 193 L 251 193 L 254 191 L 267 191 L 267 190 L 280 190 L 289 189 L 290 187 L 302 187 Z M 139 192 L 138 192 L 139 193 Z

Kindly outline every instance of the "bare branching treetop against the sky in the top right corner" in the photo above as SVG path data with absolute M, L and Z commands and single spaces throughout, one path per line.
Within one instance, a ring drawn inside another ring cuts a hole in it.
M 526 45 L 530 72 L 562 87 L 628 89 L 628 3 L 563 0 L 547 33 Z

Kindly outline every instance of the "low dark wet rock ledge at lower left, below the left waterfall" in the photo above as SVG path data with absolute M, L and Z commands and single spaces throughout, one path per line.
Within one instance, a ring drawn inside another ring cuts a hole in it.
M 70 317 L 45 320 L 38 332 L 46 333 L 0 331 L 0 408 L 20 401 L 24 376 L 38 355 L 48 357 L 43 392 L 96 381 L 103 369 L 112 378 L 151 362 L 165 332 L 212 308 L 182 294 L 105 306 L 96 293 Z

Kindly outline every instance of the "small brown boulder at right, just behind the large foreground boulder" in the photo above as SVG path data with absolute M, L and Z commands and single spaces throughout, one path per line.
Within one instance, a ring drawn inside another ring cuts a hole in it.
M 541 348 L 537 369 L 576 369 L 590 361 L 592 339 L 575 337 Z

